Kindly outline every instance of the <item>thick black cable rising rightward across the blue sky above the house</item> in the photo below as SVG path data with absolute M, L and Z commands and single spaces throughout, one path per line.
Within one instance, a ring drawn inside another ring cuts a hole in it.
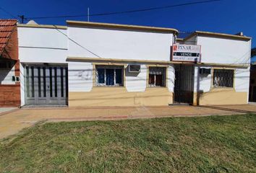
M 195 2 L 188 2 L 188 3 L 183 3 L 183 4 L 158 6 L 158 7 L 148 8 L 148 9 L 134 9 L 134 10 L 124 11 L 124 12 L 107 12 L 107 13 L 98 13 L 98 14 L 90 14 L 90 15 L 80 14 L 80 15 L 51 16 L 51 17 L 26 17 L 26 19 L 52 19 L 52 18 L 88 17 L 88 16 L 93 17 L 93 16 L 113 15 L 113 14 L 126 14 L 126 13 L 133 13 L 133 12 L 146 12 L 146 11 L 157 10 L 157 9 L 168 9 L 168 8 L 172 8 L 172 7 L 176 7 L 176 6 L 206 4 L 206 3 L 215 2 L 215 1 L 221 1 L 221 0 L 195 1 Z

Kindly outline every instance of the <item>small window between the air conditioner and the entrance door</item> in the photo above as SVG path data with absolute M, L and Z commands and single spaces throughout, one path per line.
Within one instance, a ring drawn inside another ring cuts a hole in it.
M 166 67 L 149 67 L 149 86 L 166 86 Z

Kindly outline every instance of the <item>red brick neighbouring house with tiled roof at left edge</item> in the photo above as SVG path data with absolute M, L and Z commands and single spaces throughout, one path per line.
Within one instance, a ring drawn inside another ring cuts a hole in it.
M 20 106 L 17 20 L 0 20 L 0 107 Z

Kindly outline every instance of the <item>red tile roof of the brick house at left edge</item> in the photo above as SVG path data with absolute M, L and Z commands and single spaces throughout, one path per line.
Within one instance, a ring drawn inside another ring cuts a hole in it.
M 0 19 L 0 55 L 3 53 L 16 24 L 16 19 Z

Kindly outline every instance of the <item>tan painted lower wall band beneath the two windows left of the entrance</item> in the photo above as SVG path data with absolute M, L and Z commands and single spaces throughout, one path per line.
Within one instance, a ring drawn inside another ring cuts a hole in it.
M 69 92 L 69 107 L 90 106 L 162 106 L 173 103 L 168 88 L 147 88 L 145 92 L 127 92 L 125 87 L 93 87 L 91 92 Z

